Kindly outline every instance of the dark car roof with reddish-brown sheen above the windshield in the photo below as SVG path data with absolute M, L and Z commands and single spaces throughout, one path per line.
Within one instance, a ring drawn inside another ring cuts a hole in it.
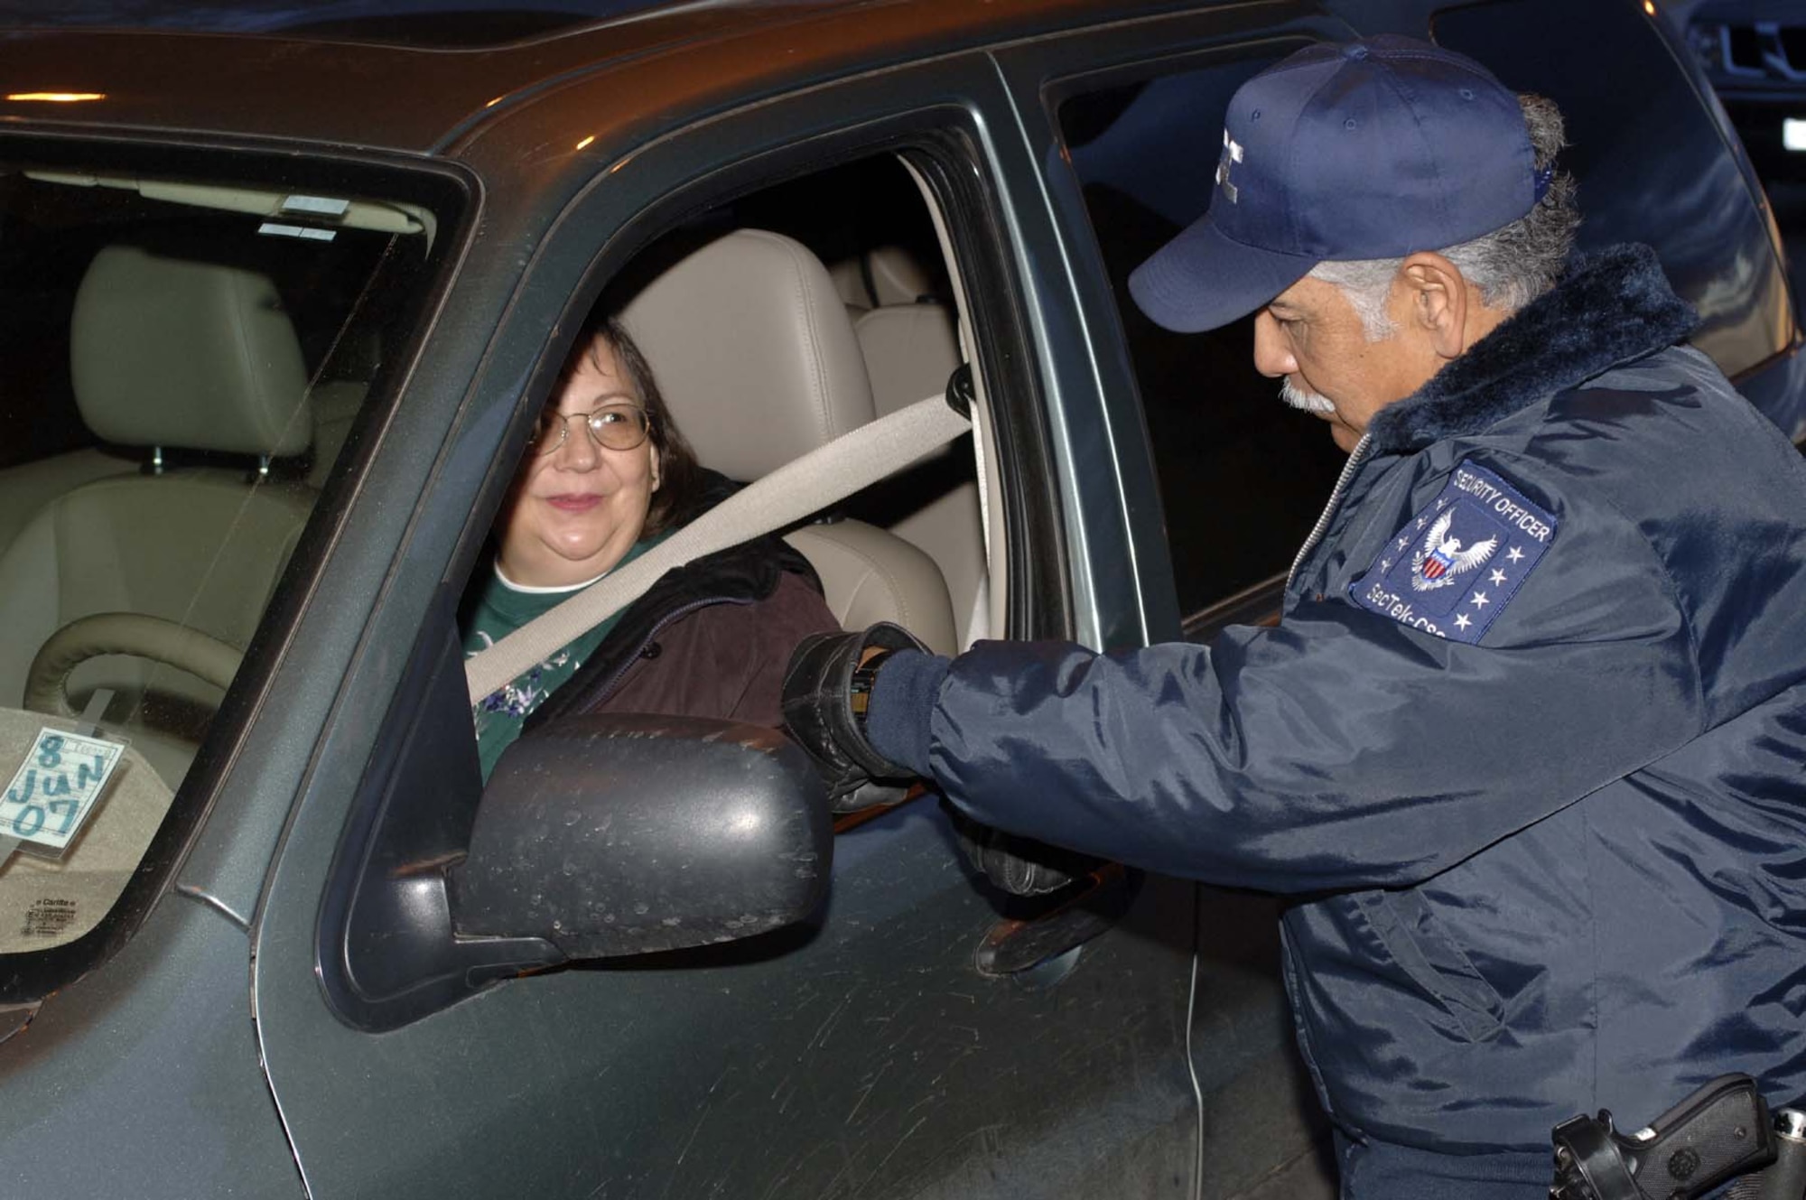
M 721 87 L 719 72 L 684 70 L 686 63 L 731 61 L 735 87 L 749 98 L 1170 7 L 1150 0 L 704 0 L 634 11 L 623 11 L 632 0 L 567 4 L 549 31 L 459 49 L 347 40 L 332 25 L 251 34 L 74 22 L 0 29 L 7 87 L 0 119 L 439 154 L 509 108 L 612 69 L 657 65 L 656 74 L 630 72 L 634 85 L 657 87 L 661 99 L 668 92 L 681 110 L 692 107 L 686 89 L 703 96 Z M 616 11 L 563 20 L 585 5 Z M 596 121 L 605 125 L 607 114 Z

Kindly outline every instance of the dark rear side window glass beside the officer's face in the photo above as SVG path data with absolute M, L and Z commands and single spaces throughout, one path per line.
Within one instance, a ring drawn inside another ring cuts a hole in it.
M 1264 586 L 1284 580 L 1345 457 L 1253 369 L 1253 318 L 1176 334 L 1129 298 L 1129 273 L 1208 208 L 1223 112 L 1270 61 L 1082 92 L 1058 108 L 1129 342 L 1190 634 L 1279 607 Z

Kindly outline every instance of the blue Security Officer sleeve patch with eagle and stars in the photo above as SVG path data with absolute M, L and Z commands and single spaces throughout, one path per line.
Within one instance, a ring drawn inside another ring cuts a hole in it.
M 1463 461 L 1436 502 L 1392 535 L 1349 586 L 1364 609 L 1476 643 L 1555 540 L 1555 517 Z

